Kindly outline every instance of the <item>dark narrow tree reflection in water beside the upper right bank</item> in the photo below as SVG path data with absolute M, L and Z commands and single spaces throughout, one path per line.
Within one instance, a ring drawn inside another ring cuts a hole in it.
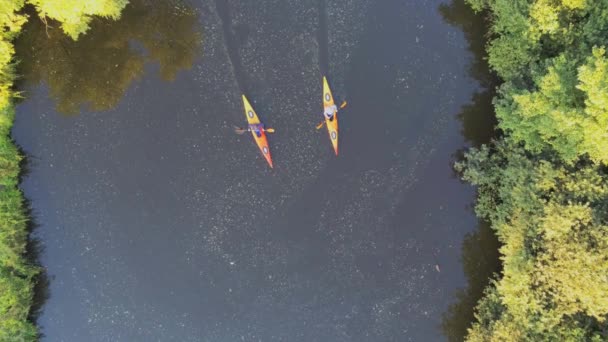
M 452 0 L 449 4 L 439 6 L 439 12 L 444 20 L 460 28 L 469 44 L 473 59 L 469 67 L 469 75 L 480 86 L 473 94 L 471 102 L 464 105 L 458 114 L 462 122 L 462 134 L 473 146 L 488 143 L 494 136 L 496 116 L 492 99 L 496 94 L 499 79 L 490 71 L 485 58 L 487 29 L 484 16 L 475 14 L 464 0 Z

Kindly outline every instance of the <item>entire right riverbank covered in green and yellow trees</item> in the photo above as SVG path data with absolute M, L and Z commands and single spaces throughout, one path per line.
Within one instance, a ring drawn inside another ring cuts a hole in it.
M 501 138 L 456 168 L 502 247 L 467 340 L 608 338 L 608 3 L 468 0 L 491 18 Z

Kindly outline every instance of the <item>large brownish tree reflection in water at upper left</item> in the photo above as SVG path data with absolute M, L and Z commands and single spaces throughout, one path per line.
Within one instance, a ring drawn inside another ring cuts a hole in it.
M 45 83 L 57 111 L 113 108 L 156 62 L 164 80 L 192 66 L 200 49 L 197 12 L 181 1 L 130 0 L 117 22 L 98 19 L 76 42 L 59 25 L 30 20 L 16 43 L 25 85 Z

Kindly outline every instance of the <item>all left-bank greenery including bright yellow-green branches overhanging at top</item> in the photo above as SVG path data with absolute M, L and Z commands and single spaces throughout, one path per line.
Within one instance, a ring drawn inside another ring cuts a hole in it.
M 85 29 L 82 23 L 89 20 L 83 17 L 79 21 L 80 26 L 75 25 L 79 15 L 95 14 L 96 10 L 102 9 L 96 7 L 97 5 L 109 5 L 112 2 L 78 2 L 88 6 L 83 11 L 83 5 L 78 5 L 72 8 L 74 12 L 70 12 L 72 9 L 69 7 L 62 7 L 69 5 L 65 1 L 30 3 L 37 5 L 38 10 L 48 12 L 50 17 L 66 18 L 68 24 L 64 29 L 76 37 L 76 31 L 81 33 Z M 14 119 L 13 100 L 18 95 L 12 89 L 15 80 L 15 52 L 12 40 L 27 20 L 27 16 L 20 12 L 24 4 L 23 0 L 0 0 L 0 341 L 38 339 L 38 331 L 29 316 L 39 270 L 25 257 L 28 245 L 28 217 L 23 195 L 18 188 L 22 156 L 10 137 Z M 76 5 L 76 1 L 73 1 L 73 5 Z M 107 13 L 101 12 L 103 15 L 109 15 Z M 113 13 L 111 16 L 117 15 L 116 12 Z

